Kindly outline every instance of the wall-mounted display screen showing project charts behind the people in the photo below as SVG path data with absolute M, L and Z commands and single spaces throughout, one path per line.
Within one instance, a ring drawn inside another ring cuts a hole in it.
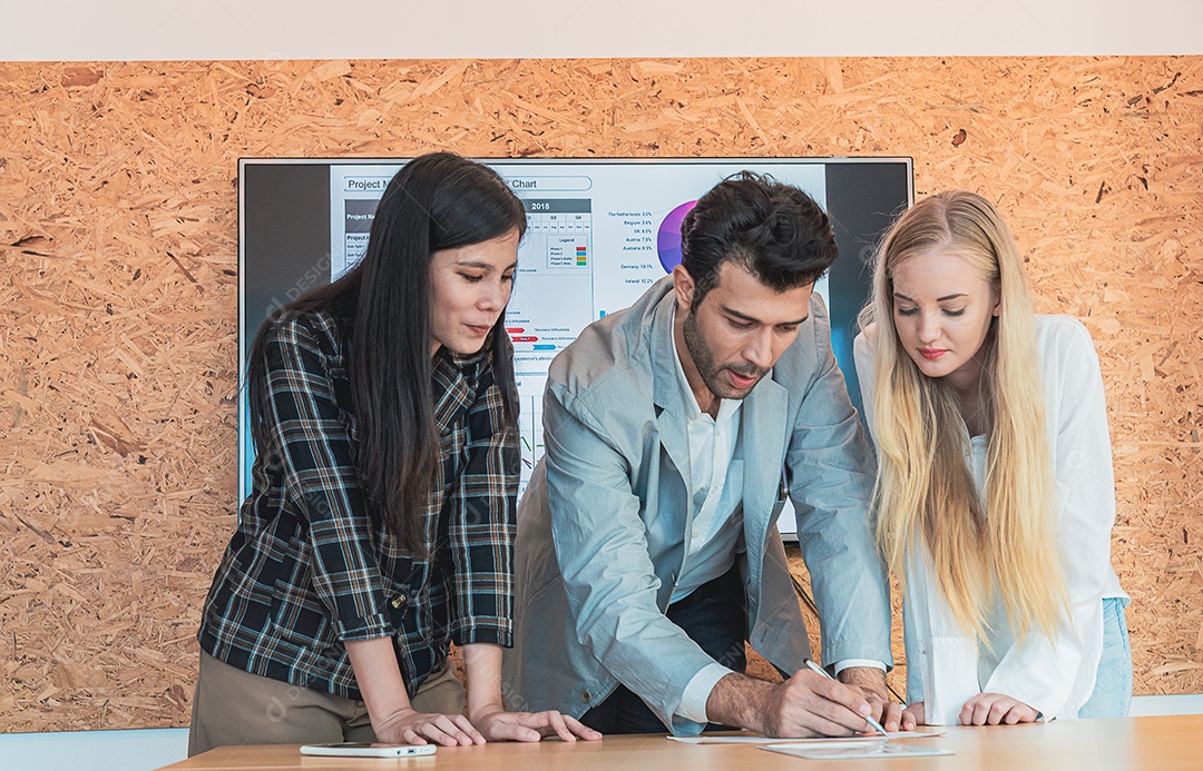
M 835 222 L 840 258 L 817 291 L 831 313 L 836 359 L 859 408 L 852 359 L 870 255 L 913 201 L 911 159 L 484 160 L 528 219 L 506 310 L 521 395 L 522 485 L 543 454 L 547 366 L 591 322 L 633 303 L 681 262 L 681 221 L 715 184 L 743 169 L 796 185 Z M 373 213 L 404 159 L 243 159 L 238 165 L 238 355 L 277 307 L 337 279 L 363 255 Z M 238 489 L 254 446 L 245 398 Z M 794 528 L 782 516 L 783 532 Z

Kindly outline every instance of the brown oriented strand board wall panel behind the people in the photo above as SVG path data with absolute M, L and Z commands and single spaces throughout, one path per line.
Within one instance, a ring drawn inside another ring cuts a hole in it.
M 1095 335 L 1139 693 L 1203 691 L 1203 59 L 0 65 L 0 730 L 186 725 L 236 159 L 911 155 Z M 899 646 L 901 656 L 901 646 Z

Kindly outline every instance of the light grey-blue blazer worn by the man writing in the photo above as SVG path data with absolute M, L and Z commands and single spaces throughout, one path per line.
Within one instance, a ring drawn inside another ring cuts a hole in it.
M 580 717 L 621 682 L 678 734 L 689 680 L 713 663 L 670 622 L 689 531 L 686 398 L 672 359 L 672 277 L 591 324 L 555 361 L 545 455 L 518 507 L 511 710 Z M 823 659 L 890 664 L 885 579 L 870 536 L 872 455 L 816 294 L 798 340 L 742 407 L 748 639 L 793 673 L 810 655 L 781 536 L 786 494 L 819 608 Z

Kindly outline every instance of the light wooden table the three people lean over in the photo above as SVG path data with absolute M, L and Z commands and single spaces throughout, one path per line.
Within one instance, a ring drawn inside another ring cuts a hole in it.
M 312 758 L 295 745 L 219 747 L 166 766 L 173 771 L 239 769 L 263 771 L 842 771 L 918 770 L 1090 771 L 1203 769 L 1203 715 L 1109 721 L 1062 721 L 1037 725 L 950 728 L 936 739 L 907 740 L 956 754 L 911 759 L 806 760 L 748 745 L 693 746 L 659 735 L 611 736 L 565 745 L 496 743 L 439 747 L 426 758 Z

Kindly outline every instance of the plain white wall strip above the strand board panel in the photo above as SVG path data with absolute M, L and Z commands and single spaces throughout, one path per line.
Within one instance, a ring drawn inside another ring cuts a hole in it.
M 0 60 L 1201 54 L 1199 0 L 0 0 Z

